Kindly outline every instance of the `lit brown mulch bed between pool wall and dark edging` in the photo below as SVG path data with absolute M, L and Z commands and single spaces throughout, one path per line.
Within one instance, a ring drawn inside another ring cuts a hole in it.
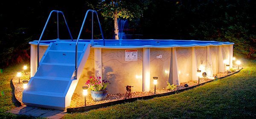
M 236 68 L 236 71 L 239 71 L 239 69 Z M 232 73 L 231 73 L 232 74 Z M 27 72 L 26 75 L 30 75 L 30 72 Z M 220 72 L 218 74 L 216 74 L 217 77 L 224 77 L 227 76 L 227 71 L 226 72 Z M 214 76 L 215 77 L 215 76 Z M 213 79 L 207 79 L 207 78 L 200 78 L 200 83 L 204 83 L 204 82 L 208 82 L 211 81 Z M 21 102 L 21 105 L 24 105 L 22 103 L 22 92 L 23 92 L 23 83 L 22 83 L 23 79 L 20 79 L 20 84 L 19 79 L 17 77 L 14 77 L 12 82 L 13 85 L 15 86 L 15 97 L 17 98 L 17 100 L 19 102 Z M 198 81 L 189 81 L 189 82 L 183 82 L 180 83 L 180 85 L 177 86 L 177 88 L 174 91 L 180 90 L 180 89 L 184 89 L 187 87 L 184 87 L 185 84 L 188 84 L 189 87 L 194 86 L 194 85 L 198 85 Z M 167 93 L 167 92 L 171 92 L 170 90 L 167 90 L 166 88 L 157 88 L 156 89 L 156 94 L 163 94 L 163 93 Z M 131 97 L 129 98 L 135 98 L 135 97 L 142 97 L 142 96 L 151 96 L 154 95 L 154 89 L 151 89 L 149 92 L 132 92 L 131 93 Z M 105 100 L 103 101 L 99 101 L 99 102 L 94 102 L 93 99 L 91 98 L 90 95 L 88 95 L 86 97 L 86 105 L 90 106 L 90 105 L 98 105 L 98 104 L 102 104 L 102 103 L 107 103 L 107 102 L 113 102 L 113 101 L 117 101 L 117 100 L 122 100 L 122 99 L 128 99 L 128 97 L 125 96 L 125 94 L 108 94 L 108 96 L 106 97 Z M 71 99 L 71 104 L 70 104 L 70 108 L 76 108 L 76 107 L 82 107 L 84 106 L 84 96 L 81 93 L 74 93 Z

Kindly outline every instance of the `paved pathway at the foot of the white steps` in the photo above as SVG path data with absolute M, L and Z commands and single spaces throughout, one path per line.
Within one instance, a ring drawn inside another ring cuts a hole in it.
M 26 105 L 14 108 L 7 112 L 19 114 L 19 115 L 46 117 L 48 119 L 61 119 L 61 117 L 63 117 L 66 114 L 66 112 L 64 112 L 64 111 L 34 108 L 34 107 L 26 106 Z

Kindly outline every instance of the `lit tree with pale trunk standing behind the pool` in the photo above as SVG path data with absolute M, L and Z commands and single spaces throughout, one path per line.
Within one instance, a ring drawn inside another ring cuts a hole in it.
M 143 11 L 147 8 L 148 0 L 99 0 L 94 1 L 96 7 L 101 10 L 103 17 L 112 18 L 114 20 L 114 35 L 118 40 L 118 18 L 133 20 L 134 18 L 143 17 Z

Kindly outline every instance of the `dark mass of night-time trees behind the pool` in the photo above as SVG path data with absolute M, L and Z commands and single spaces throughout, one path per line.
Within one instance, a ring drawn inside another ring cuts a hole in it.
M 38 40 L 52 10 L 64 12 L 76 39 L 86 10 L 94 8 L 99 11 L 105 37 L 113 39 L 113 18 L 103 17 L 104 9 L 97 5 L 90 0 L 0 3 L 0 65 L 29 61 L 28 42 Z M 141 34 L 142 39 L 230 41 L 236 43 L 236 53 L 256 57 L 256 0 L 152 0 L 146 7 L 142 16 L 128 21 L 126 27 L 130 30 L 125 31 L 126 34 Z M 43 40 L 56 38 L 56 17 L 53 16 Z M 69 39 L 60 20 L 60 38 Z M 82 39 L 90 39 L 90 23 L 86 28 Z M 99 31 L 94 33 L 95 38 L 101 38 Z

